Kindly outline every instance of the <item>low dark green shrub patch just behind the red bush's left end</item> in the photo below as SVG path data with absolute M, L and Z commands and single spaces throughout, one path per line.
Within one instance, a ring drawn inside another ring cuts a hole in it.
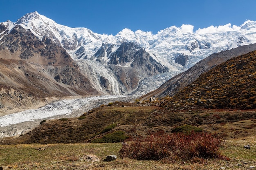
M 123 131 L 115 131 L 112 133 L 108 133 L 107 135 L 92 139 L 92 143 L 115 143 L 115 142 L 123 142 L 125 139 L 128 139 L 129 137 L 125 135 L 125 132 Z

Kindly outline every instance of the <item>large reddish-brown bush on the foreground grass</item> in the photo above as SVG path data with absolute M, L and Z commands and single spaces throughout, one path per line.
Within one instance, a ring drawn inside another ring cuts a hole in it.
M 123 145 L 121 157 L 137 160 L 204 161 L 217 158 L 229 160 L 219 152 L 223 142 L 207 133 L 191 132 L 190 135 L 175 133 L 171 135 L 151 135 Z

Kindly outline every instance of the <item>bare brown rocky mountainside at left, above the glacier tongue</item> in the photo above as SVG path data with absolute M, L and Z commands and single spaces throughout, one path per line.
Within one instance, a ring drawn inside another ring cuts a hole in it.
M 63 47 L 8 26 L 0 24 L 0 115 L 41 106 L 49 97 L 99 94 Z

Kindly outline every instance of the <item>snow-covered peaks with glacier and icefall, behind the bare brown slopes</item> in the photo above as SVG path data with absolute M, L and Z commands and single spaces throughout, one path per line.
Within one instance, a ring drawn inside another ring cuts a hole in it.
M 157 34 L 124 29 L 117 35 L 63 26 L 37 12 L 28 13 L 15 23 L 4 22 L 9 30 L 16 24 L 41 40 L 46 35 L 63 46 L 84 68 L 84 73 L 91 76 L 94 87 L 106 94 L 142 95 L 212 53 L 256 43 L 256 22 L 250 20 L 240 26 L 226 24 L 196 31 L 192 25 L 184 24 Z M 149 86 L 148 82 L 157 83 Z

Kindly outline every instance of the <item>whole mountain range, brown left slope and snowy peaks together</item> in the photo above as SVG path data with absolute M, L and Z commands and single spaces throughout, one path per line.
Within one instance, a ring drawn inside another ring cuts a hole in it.
M 7 101 L 13 101 L 11 108 L 27 106 L 20 96 L 33 103 L 54 96 L 144 95 L 213 53 L 256 43 L 256 22 L 250 20 L 191 28 L 101 35 L 57 24 L 36 11 L 1 22 L 1 107 L 8 110 Z

